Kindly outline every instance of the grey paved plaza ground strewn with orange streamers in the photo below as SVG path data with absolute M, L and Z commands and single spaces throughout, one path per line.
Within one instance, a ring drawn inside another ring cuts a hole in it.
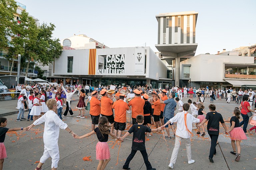
M 77 104 L 78 97 L 73 96 L 73 102 L 71 104 L 74 109 Z M 189 98 L 182 99 L 184 103 L 187 102 Z M 196 99 L 193 99 L 194 101 Z M 15 111 L 17 105 L 16 100 L 12 101 L 1 101 L 0 102 L 0 113 L 6 113 L 10 109 Z M 206 107 L 206 112 L 209 112 L 208 105 L 210 100 L 206 98 L 204 106 Z M 229 120 L 232 116 L 232 111 L 238 105 L 234 102 L 227 104 L 225 100 L 214 101 L 216 105 L 216 111 L 221 113 L 224 120 Z M 9 108 L 8 108 L 9 107 Z M 65 108 L 64 108 L 65 109 Z M 78 111 L 74 109 L 75 116 L 78 115 Z M 5 112 L 4 112 L 5 111 Z M 17 111 L 17 110 L 16 110 Z M 11 111 L 10 111 L 11 112 Z M 176 111 L 177 112 L 177 111 Z M 190 113 L 190 110 L 189 110 Z M 28 112 L 25 112 L 27 116 Z M 68 114 L 69 116 L 69 114 Z M 91 120 L 89 113 L 86 112 L 85 119 L 78 119 L 74 117 L 65 117 L 64 122 L 68 124 L 68 127 L 72 129 L 76 134 L 82 135 L 91 131 Z M 8 120 L 7 128 L 15 127 L 27 127 L 32 124 L 32 122 L 21 121 L 16 122 L 17 114 L 5 116 Z M 127 119 L 130 121 L 130 114 L 127 114 Z M 127 124 L 127 128 L 130 124 Z M 226 123 L 229 128 L 230 124 Z M 206 127 L 206 125 L 205 125 Z M 250 128 L 251 125 L 248 125 Z M 151 128 L 154 128 L 153 126 Z M 37 165 L 37 161 L 43 154 L 43 131 L 44 125 L 39 125 L 31 129 L 30 131 L 17 131 L 17 134 L 7 133 L 5 138 L 5 146 L 7 151 L 7 158 L 4 161 L 5 170 L 31 170 Z M 125 130 L 126 132 L 127 130 Z M 123 132 L 123 134 L 125 133 Z M 230 138 L 225 134 L 222 126 L 220 126 L 219 135 L 219 145 L 216 147 L 217 154 L 213 157 L 214 163 L 209 162 L 208 155 L 210 149 L 210 137 L 206 133 L 204 137 L 196 134 L 196 130 L 193 130 L 193 136 L 191 139 L 192 147 L 192 159 L 195 163 L 187 163 L 186 149 L 183 142 L 181 142 L 178 158 L 176 164 L 174 164 L 174 169 L 179 170 L 255 170 L 256 169 L 256 135 L 255 131 L 251 135 L 247 135 L 248 140 L 244 140 L 241 143 L 241 159 L 239 162 L 235 162 L 235 155 L 232 155 Z M 171 136 L 173 134 L 171 133 Z M 127 138 L 132 138 L 132 134 Z M 152 133 L 146 139 L 146 149 L 149 157 L 149 161 L 153 168 L 158 170 L 169 169 L 168 164 L 171 158 L 172 150 L 175 143 L 175 138 L 166 139 L 165 142 L 163 134 Z M 95 148 L 98 142 L 97 136 L 92 135 L 83 139 L 74 139 L 67 131 L 60 130 L 59 136 L 59 150 L 60 150 L 60 161 L 58 164 L 58 169 L 61 170 L 89 170 L 96 169 L 98 161 L 96 160 Z M 108 140 L 111 161 L 108 163 L 107 170 L 119 170 L 122 169 L 127 156 L 131 151 L 131 140 L 125 139 L 124 142 L 118 144 L 111 137 Z M 92 161 L 84 161 L 83 157 L 91 156 Z M 136 153 L 135 157 L 129 166 L 132 170 L 144 170 L 146 166 L 140 152 Z M 43 166 L 42 169 L 51 169 L 51 160 L 49 159 Z

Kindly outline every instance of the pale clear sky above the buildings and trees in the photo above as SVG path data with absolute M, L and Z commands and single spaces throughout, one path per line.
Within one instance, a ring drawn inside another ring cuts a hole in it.
M 40 23 L 53 23 L 54 38 L 85 34 L 106 46 L 150 46 L 158 36 L 156 15 L 196 11 L 197 54 L 216 54 L 256 43 L 255 0 L 18 0 Z

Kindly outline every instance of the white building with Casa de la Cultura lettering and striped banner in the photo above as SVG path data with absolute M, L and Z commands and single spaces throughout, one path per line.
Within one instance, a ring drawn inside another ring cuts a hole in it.
M 91 85 L 152 84 L 156 88 L 170 83 L 167 71 L 167 66 L 150 47 L 63 50 L 52 69 L 53 76 L 59 78 L 51 78 L 51 81 Z

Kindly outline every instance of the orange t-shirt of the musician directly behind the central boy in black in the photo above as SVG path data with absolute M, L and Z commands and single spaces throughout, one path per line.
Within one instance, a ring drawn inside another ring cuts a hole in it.
M 132 118 L 136 118 L 137 115 L 143 115 L 144 104 L 145 101 L 141 97 L 135 97 L 128 103 L 128 106 L 132 106 Z

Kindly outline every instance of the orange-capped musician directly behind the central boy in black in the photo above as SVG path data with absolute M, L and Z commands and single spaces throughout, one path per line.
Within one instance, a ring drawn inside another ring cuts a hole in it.
M 132 124 L 138 124 L 136 121 L 137 115 L 143 115 L 144 100 L 140 97 L 141 91 L 138 89 L 133 90 L 135 97 L 130 100 L 128 106 L 132 106 Z

